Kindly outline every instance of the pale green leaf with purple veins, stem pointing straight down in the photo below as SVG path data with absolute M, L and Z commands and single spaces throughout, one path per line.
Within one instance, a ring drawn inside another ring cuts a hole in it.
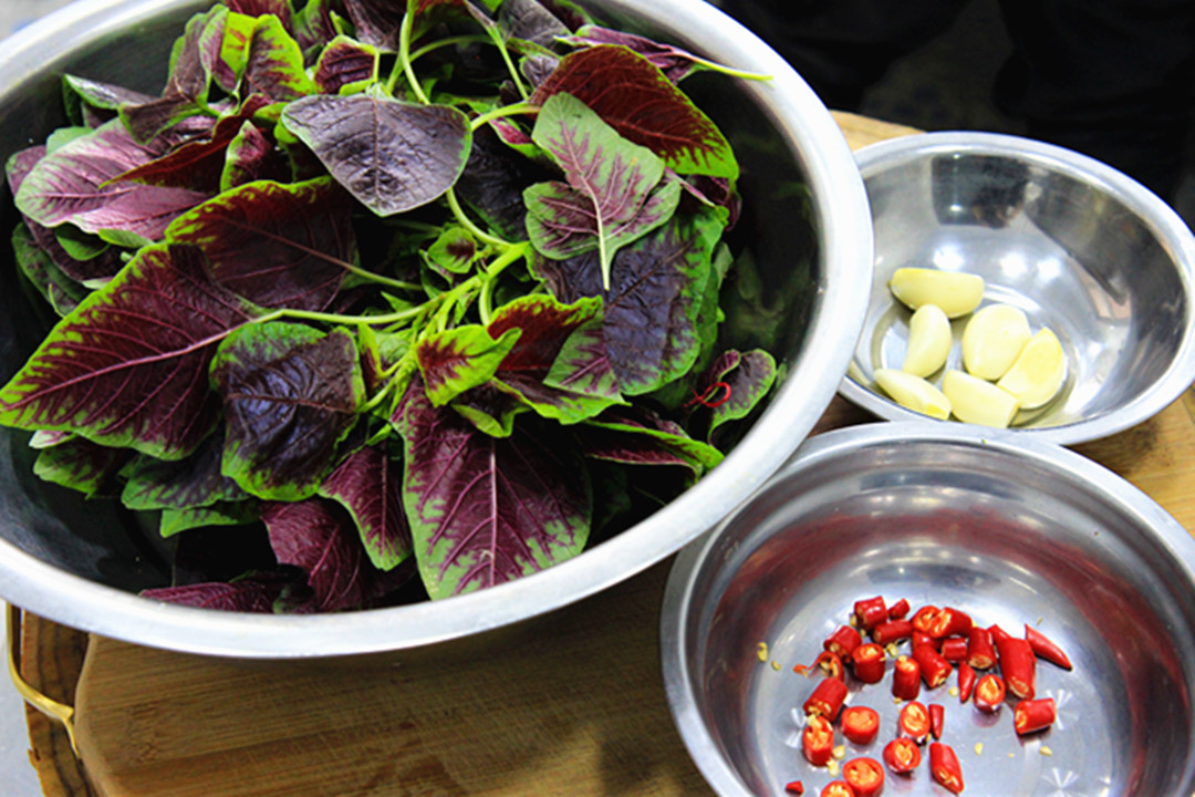
M 657 189 L 663 161 L 568 94 L 544 103 L 532 139 L 568 179 L 568 185 L 540 183 L 523 192 L 532 244 L 557 260 L 596 249 L 608 288 L 614 253 L 672 216 L 680 185 L 668 180 Z

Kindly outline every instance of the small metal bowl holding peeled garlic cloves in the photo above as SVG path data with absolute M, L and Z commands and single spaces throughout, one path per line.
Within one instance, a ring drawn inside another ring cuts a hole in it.
M 889 421 L 924 417 L 872 382 L 876 369 L 905 360 L 911 311 L 888 289 L 902 266 L 979 274 L 985 305 L 1017 306 L 1034 331 L 1058 335 L 1068 374 L 1053 401 L 1013 419 L 1028 436 L 1105 437 L 1195 380 L 1195 238 L 1135 180 L 1068 149 L 986 133 L 894 139 L 860 149 L 857 161 L 876 268 L 845 398 Z M 945 368 L 962 368 L 966 323 L 952 321 Z

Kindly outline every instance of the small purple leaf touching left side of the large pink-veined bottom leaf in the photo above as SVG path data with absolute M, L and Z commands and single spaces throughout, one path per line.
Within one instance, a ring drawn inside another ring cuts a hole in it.
M 349 510 L 379 570 L 392 570 L 411 554 L 411 527 L 403 509 L 403 468 L 382 446 L 351 454 L 324 479 L 319 495 Z

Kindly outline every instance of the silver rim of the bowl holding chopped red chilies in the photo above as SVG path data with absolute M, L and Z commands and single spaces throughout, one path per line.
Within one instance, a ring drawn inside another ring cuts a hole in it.
M 1156 532 L 1156 541 L 1175 560 L 1190 583 L 1195 583 L 1195 537 L 1170 513 L 1142 490 L 1095 460 L 1087 459 L 1053 442 L 1027 439 L 1006 430 L 991 430 L 973 424 L 943 424 L 931 419 L 877 421 L 833 429 L 807 440 L 792 458 L 764 485 L 756 497 L 770 488 L 802 472 L 816 472 L 845 453 L 882 446 L 966 446 L 981 455 L 1028 458 L 1040 466 L 1068 479 L 1083 482 L 1103 501 L 1115 505 L 1124 516 L 1134 517 L 1145 528 Z M 754 498 L 753 498 L 754 499 Z M 681 548 L 668 580 L 660 614 L 660 658 L 668 707 L 690 756 L 715 792 L 722 797 L 752 797 L 734 767 L 727 762 L 718 743 L 701 717 L 699 703 L 692 689 L 692 669 L 684 651 L 688 638 L 686 629 L 694 612 L 693 589 L 697 578 L 713 562 L 718 538 L 730 527 L 742 509 L 728 515 L 704 537 Z M 1195 759 L 1188 761 L 1189 778 L 1195 778 Z

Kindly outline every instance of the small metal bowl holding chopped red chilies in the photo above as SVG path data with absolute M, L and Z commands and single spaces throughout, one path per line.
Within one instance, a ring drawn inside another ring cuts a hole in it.
M 1037 694 L 1056 700 L 1058 721 L 1023 738 L 1011 705 L 994 717 L 960 705 L 954 675 L 921 689 L 924 704 L 945 706 L 964 793 L 1189 796 L 1193 594 L 1195 539 L 1102 466 L 966 424 L 866 424 L 807 442 L 681 552 L 663 603 L 664 683 L 719 795 L 779 796 L 792 780 L 816 795 L 831 775 L 801 752 L 816 676 L 793 664 L 814 661 L 856 600 L 952 606 L 1010 632 L 1028 623 L 1074 663 L 1038 663 Z M 847 742 L 846 759 L 878 759 L 896 735 L 888 668 L 874 686 L 848 676 L 850 704 L 878 711 L 881 735 Z M 885 793 L 945 793 L 925 761 L 888 780 Z

